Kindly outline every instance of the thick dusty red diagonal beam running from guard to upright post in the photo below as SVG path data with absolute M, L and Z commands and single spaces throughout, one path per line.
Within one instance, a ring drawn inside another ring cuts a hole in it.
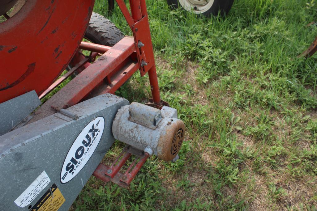
M 130 57 L 134 58 L 134 51 L 134 39 L 132 37 L 124 37 L 47 100 L 35 112 L 34 117 L 29 123 L 54 114 L 56 111 L 52 109 L 52 106 L 68 108 L 80 102 L 98 87 L 100 83 L 103 83 L 103 80 L 117 67 L 124 66 L 124 62 Z

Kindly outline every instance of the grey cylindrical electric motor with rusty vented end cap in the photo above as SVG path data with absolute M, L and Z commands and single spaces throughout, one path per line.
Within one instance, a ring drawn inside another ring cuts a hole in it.
M 162 110 L 137 102 L 121 107 L 112 125 L 113 136 L 164 161 L 177 156 L 184 140 L 185 125 L 176 109 Z

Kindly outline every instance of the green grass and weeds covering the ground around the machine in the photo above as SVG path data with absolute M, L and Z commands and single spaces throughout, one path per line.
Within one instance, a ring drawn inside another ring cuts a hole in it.
M 152 156 L 128 189 L 91 177 L 71 209 L 316 210 L 317 54 L 296 56 L 317 35 L 305 27 L 317 2 L 236 0 L 210 19 L 147 7 L 162 99 L 187 128 L 180 159 Z M 117 6 L 107 17 L 131 35 Z M 116 94 L 144 103 L 148 84 L 135 74 Z

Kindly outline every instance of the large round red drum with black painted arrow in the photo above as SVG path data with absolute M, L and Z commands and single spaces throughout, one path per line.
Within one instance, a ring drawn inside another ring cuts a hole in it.
M 0 0 L 0 8 L 7 0 Z M 0 103 L 41 95 L 65 70 L 87 28 L 94 0 L 27 0 L 0 22 Z M 69 10 L 72 8 L 73 10 Z

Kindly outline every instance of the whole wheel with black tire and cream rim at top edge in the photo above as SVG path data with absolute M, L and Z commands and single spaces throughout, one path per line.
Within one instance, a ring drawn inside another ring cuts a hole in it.
M 171 9 L 182 8 L 184 10 L 194 12 L 198 16 L 210 15 L 217 16 L 220 12 L 221 16 L 225 16 L 231 9 L 234 0 L 167 0 L 167 4 Z M 205 4 L 204 4 L 205 2 Z

